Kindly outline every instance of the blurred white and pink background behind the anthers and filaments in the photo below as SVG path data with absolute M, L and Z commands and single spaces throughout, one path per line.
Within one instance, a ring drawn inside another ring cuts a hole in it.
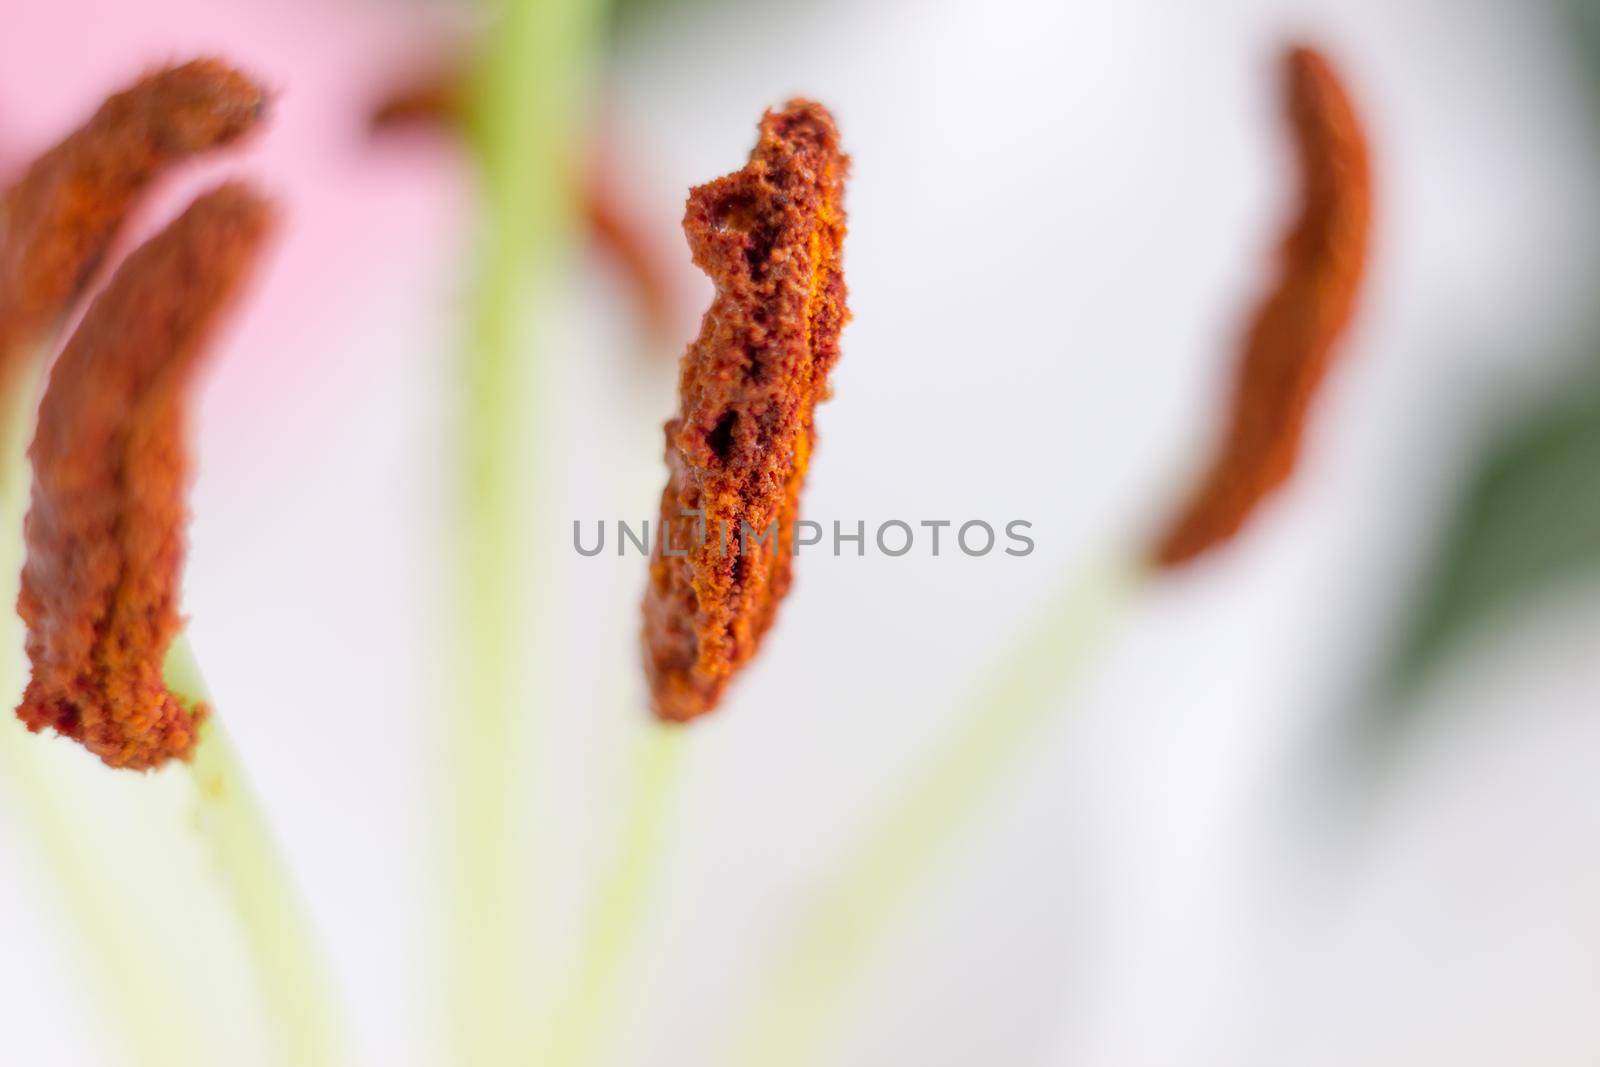
M 370 1064 L 421 1062 L 440 997 L 438 747 L 470 723 L 438 664 L 470 210 L 448 142 L 368 142 L 362 107 L 454 21 L 56 0 L 0 30 L 11 160 L 192 50 L 282 88 L 278 128 L 221 168 L 261 174 L 291 230 L 202 398 L 186 597 Z M 629 195 L 685 272 L 683 341 L 709 293 L 675 235 L 685 190 L 738 168 L 794 93 L 834 109 L 854 155 L 856 318 L 808 515 L 1027 518 L 1038 542 L 802 557 L 760 661 L 694 729 L 626 1062 L 714 1061 L 896 771 L 1192 474 L 1294 202 L 1290 40 L 1344 72 L 1379 181 L 1368 299 L 1304 467 L 1226 553 L 1130 606 L 899 917 L 827 1062 L 1600 1057 L 1600 589 L 1474 635 L 1358 798 L 1333 771 L 1477 443 L 1563 378 L 1589 325 L 1597 112 L 1568 35 L 1558 5 L 1525 0 L 690 3 L 626 24 L 602 94 Z M 611 270 L 573 264 L 530 403 L 549 625 L 528 649 L 526 798 L 558 813 L 533 857 L 557 933 L 614 840 L 645 715 L 643 561 L 579 558 L 571 522 L 651 517 L 674 405 L 674 354 L 640 342 Z M 160 779 L 59 763 L 112 837 L 182 819 Z M 18 814 L 0 805 L 6 1059 L 115 1064 Z M 117 857 L 130 907 L 182 862 Z M 202 984 L 230 936 L 206 907 L 152 920 L 163 966 Z M 237 1000 L 195 1024 L 253 1033 Z M 254 1045 L 238 1037 L 238 1064 Z

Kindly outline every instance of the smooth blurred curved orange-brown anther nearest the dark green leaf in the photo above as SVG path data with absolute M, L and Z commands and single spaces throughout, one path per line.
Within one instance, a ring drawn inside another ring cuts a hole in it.
M 1232 411 L 1211 469 L 1152 550 L 1176 568 L 1234 537 L 1294 472 L 1306 418 L 1355 312 L 1371 230 L 1371 173 L 1360 118 L 1312 48 L 1285 58 L 1301 208 L 1278 278 L 1245 339 Z

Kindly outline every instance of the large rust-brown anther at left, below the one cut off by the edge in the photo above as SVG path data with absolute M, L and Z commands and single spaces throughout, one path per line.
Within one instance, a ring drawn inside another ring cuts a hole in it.
M 32 680 L 18 707 L 110 766 L 187 757 L 205 709 L 162 669 L 181 629 L 189 382 L 272 224 L 227 184 L 122 264 L 50 374 L 18 613 Z

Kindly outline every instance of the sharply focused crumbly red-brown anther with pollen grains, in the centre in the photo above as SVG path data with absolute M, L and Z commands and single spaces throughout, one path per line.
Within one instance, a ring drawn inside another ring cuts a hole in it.
M 645 669 L 659 718 L 714 710 L 755 654 L 792 581 L 789 552 L 848 318 L 840 250 L 850 158 L 832 115 L 810 101 L 766 112 L 744 170 L 690 194 L 683 230 L 717 296 L 683 355 L 667 424 L 667 488 L 645 593 Z M 704 512 L 694 542 L 685 509 Z M 778 525 L 778 544 L 739 534 Z M 726 525 L 728 549 L 718 530 Z

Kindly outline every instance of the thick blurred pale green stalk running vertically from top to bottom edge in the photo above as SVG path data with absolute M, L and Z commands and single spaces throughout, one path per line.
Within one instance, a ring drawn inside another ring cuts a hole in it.
M 520 771 L 530 712 L 528 560 L 536 499 L 526 426 L 538 400 L 530 315 L 546 312 L 576 219 L 594 0 L 506 0 L 474 72 L 469 126 L 483 219 L 458 414 L 461 515 L 454 558 L 454 680 L 437 709 L 450 739 L 450 1061 L 523 1064 L 523 918 L 538 897 L 520 878 Z

